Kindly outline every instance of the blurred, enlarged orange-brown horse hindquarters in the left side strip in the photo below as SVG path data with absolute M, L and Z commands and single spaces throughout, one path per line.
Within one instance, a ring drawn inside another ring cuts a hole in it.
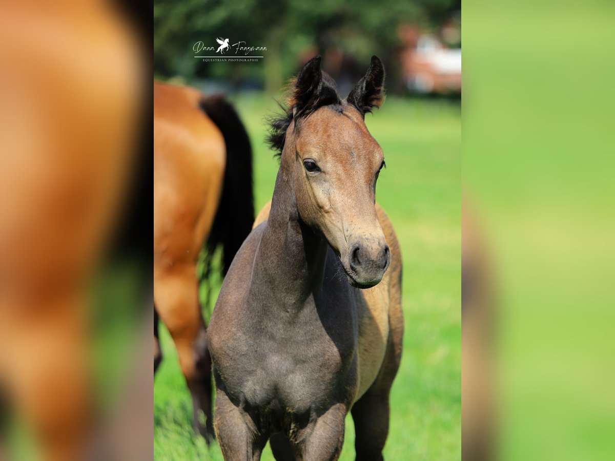
M 89 288 L 132 179 L 141 60 L 106 2 L 4 2 L 0 43 L 0 400 L 43 459 L 87 459 Z

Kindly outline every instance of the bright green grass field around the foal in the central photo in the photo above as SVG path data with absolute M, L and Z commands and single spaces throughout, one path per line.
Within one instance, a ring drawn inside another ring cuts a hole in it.
M 252 138 L 256 210 L 271 199 L 277 160 L 264 145 L 271 98 L 233 98 Z M 461 109 L 446 101 L 389 97 L 366 117 L 387 168 L 376 199 L 397 230 L 403 253 L 405 334 L 402 365 L 391 394 L 391 460 L 461 459 Z M 212 297 L 213 298 L 213 297 Z M 213 299 L 212 299 L 213 301 Z M 157 460 L 221 460 L 192 435 L 191 401 L 167 331 L 154 384 Z M 272 460 L 266 447 L 263 460 Z M 342 460 L 354 459 L 347 418 Z

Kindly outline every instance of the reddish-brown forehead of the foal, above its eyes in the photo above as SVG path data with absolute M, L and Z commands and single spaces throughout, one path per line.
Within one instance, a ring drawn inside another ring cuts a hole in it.
M 325 106 L 302 120 L 298 148 L 329 146 L 329 151 L 357 151 L 378 156 L 382 149 L 371 136 L 359 111 L 349 104 Z

